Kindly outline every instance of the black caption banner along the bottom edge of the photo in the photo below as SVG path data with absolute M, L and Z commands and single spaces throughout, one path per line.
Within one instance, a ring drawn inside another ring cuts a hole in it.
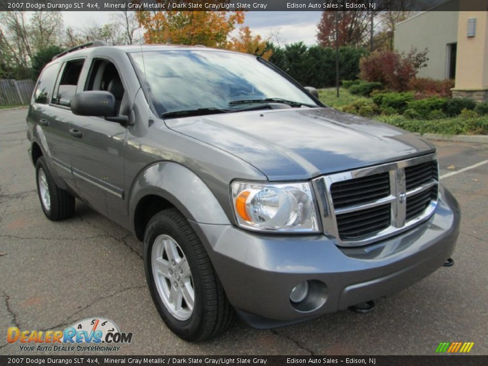
M 488 356 L 0 356 L 0 366 L 48 364 L 481 366 Z

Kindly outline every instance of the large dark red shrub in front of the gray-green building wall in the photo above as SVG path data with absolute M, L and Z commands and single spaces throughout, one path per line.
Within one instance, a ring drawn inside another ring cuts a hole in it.
M 424 67 L 428 60 L 428 50 L 417 52 L 412 48 L 410 52 L 382 51 L 373 52 L 362 57 L 359 62 L 359 77 L 365 81 L 380 82 L 387 89 L 403 92 L 408 89 L 408 83 Z

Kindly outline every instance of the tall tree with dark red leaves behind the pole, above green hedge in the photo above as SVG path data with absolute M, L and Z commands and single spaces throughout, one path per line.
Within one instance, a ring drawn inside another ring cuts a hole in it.
M 371 13 L 365 10 L 337 13 L 339 46 L 363 46 L 368 40 Z M 335 11 L 324 11 L 317 25 L 317 40 L 323 47 L 335 47 L 335 14 Z

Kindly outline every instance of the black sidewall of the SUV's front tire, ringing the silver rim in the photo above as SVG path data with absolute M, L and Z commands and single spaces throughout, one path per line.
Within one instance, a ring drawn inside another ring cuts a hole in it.
M 166 306 L 161 299 L 161 296 L 156 287 L 153 275 L 153 266 L 151 262 L 151 253 L 153 251 L 154 241 L 159 235 L 166 234 L 171 236 L 178 243 L 179 247 L 185 254 L 190 270 L 192 271 L 193 286 L 195 291 L 195 306 L 191 317 L 187 320 L 181 321 L 174 318 L 166 309 Z M 193 253 L 193 249 L 189 244 L 189 239 L 185 233 L 181 232 L 178 227 L 171 224 L 168 219 L 163 218 L 149 223 L 146 233 L 144 235 L 144 269 L 146 274 L 147 285 L 156 309 L 166 325 L 176 333 L 180 338 L 186 341 L 193 341 L 198 339 L 198 333 L 202 326 L 204 314 L 204 295 L 203 286 L 201 283 L 201 276 L 199 276 L 199 266 Z

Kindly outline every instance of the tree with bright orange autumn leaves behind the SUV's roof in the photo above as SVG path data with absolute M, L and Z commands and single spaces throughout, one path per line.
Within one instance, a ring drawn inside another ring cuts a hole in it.
M 242 11 L 141 11 L 137 19 L 145 29 L 146 43 L 175 43 L 225 48 Z

